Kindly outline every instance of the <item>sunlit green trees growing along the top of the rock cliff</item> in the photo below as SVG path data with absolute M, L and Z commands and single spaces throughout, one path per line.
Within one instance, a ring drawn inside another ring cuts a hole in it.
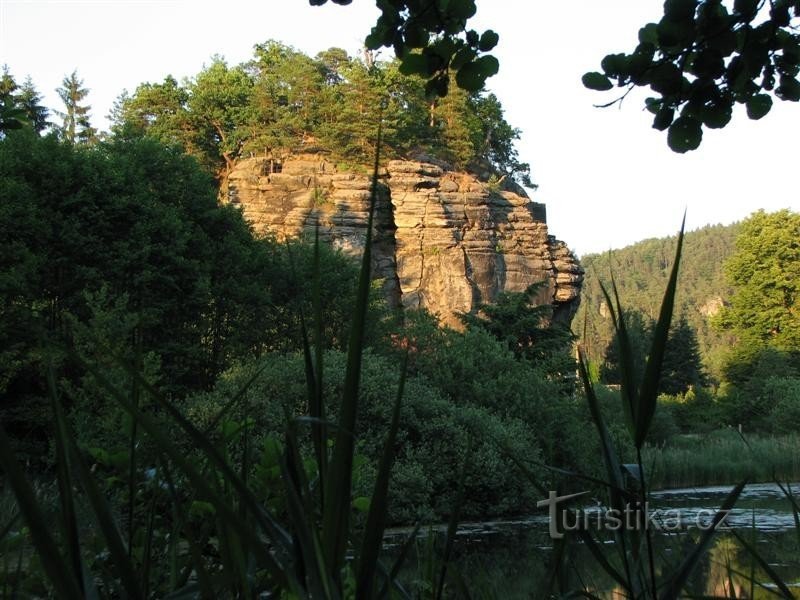
M 513 145 L 519 131 L 493 94 L 455 88 L 431 99 L 424 80 L 404 75 L 398 62 L 362 61 L 338 48 L 311 58 L 269 41 L 245 64 L 214 58 L 183 84 L 167 77 L 120 98 L 113 129 L 179 144 L 224 179 L 237 158 L 253 154 L 323 150 L 367 165 L 380 117 L 385 154 L 429 155 L 530 183 Z

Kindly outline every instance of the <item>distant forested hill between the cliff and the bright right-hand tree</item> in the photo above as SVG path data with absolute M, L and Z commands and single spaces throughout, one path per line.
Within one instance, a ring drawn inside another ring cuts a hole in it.
M 738 232 L 737 223 L 709 225 L 687 233 L 678 279 L 676 317 L 684 316 L 696 331 L 706 368 L 715 378 L 730 340 L 711 326 L 711 318 L 731 296 L 723 264 L 733 253 Z M 675 256 L 676 239 L 647 239 L 610 253 L 581 257 L 586 276 L 573 331 L 584 340 L 593 361 L 602 362 L 612 337 L 611 315 L 600 283 L 610 291 L 613 273 L 623 306 L 656 319 Z

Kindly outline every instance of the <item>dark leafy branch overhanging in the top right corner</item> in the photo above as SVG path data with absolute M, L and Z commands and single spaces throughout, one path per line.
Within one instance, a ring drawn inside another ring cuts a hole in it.
M 636 49 L 609 54 L 603 73 L 587 73 L 583 83 L 600 91 L 614 82 L 627 91 L 649 87 L 653 127 L 668 130 L 675 152 L 694 150 L 703 127 L 725 127 L 735 104 L 761 119 L 773 96 L 800 100 L 799 17 L 796 0 L 666 0 L 663 18 L 639 30 Z

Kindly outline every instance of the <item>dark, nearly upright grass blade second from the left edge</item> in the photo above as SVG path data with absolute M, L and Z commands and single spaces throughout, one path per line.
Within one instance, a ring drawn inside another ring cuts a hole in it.
M 70 457 L 67 450 L 67 425 L 61 401 L 56 390 L 55 374 L 52 366 L 47 369 L 47 387 L 50 405 L 53 410 L 55 424 L 56 478 L 58 480 L 58 496 L 61 503 L 61 526 L 64 529 L 67 560 L 75 579 L 83 586 L 83 564 L 81 561 L 81 544 L 78 537 L 78 519 L 75 515 L 75 498 L 72 491 L 70 473 Z M 86 591 L 85 589 L 83 590 Z

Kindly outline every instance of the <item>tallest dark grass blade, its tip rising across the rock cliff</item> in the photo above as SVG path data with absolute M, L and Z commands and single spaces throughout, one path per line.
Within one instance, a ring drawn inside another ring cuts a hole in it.
M 345 548 L 350 520 L 350 495 L 353 476 L 353 449 L 355 440 L 351 432 L 355 431 L 356 414 L 358 412 L 358 390 L 361 377 L 361 358 L 364 343 L 364 331 L 369 305 L 370 275 L 372 265 L 372 224 L 375 216 L 375 204 L 378 196 L 378 166 L 380 162 L 381 124 L 378 124 L 378 140 L 375 151 L 375 165 L 372 172 L 372 190 L 369 200 L 369 217 L 367 233 L 364 240 L 364 254 L 361 258 L 361 270 L 358 277 L 353 324 L 347 344 L 347 366 L 345 370 L 342 403 L 339 409 L 339 428 L 333 458 L 328 468 L 323 508 L 323 547 L 328 568 L 332 575 L 338 577 L 344 562 Z

